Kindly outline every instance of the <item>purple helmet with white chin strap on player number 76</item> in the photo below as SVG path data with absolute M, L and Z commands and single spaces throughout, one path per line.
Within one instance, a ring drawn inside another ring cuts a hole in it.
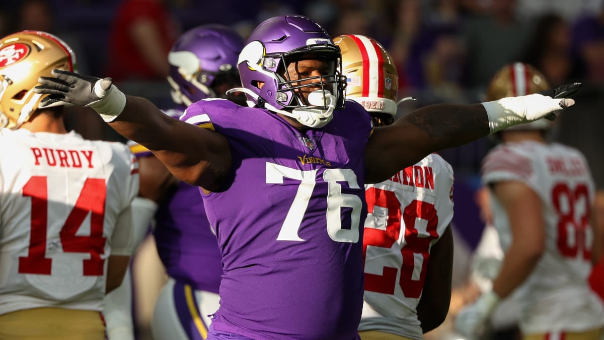
M 291 80 L 289 62 L 317 59 L 327 62 L 327 74 Z M 252 31 L 237 62 L 248 105 L 267 108 L 296 119 L 311 128 L 320 128 L 331 119 L 333 110 L 344 107 L 345 77 L 341 53 L 329 34 L 304 16 L 284 15 L 268 19 Z M 313 88 L 304 98 L 301 81 Z M 259 82 L 263 83 L 262 88 Z M 232 90 L 232 91 L 233 91 Z

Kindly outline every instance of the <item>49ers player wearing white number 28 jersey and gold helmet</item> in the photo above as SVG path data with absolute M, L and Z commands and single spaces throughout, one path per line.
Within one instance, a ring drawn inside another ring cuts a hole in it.
M 389 125 L 397 110 L 398 74 L 374 39 L 334 39 L 342 51 L 346 97 Z M 423 339 L 443 322 L 451 298 L 453 171 L 431 154 L 390 180 L 365 185 L 362 339 Z M 424 288 L 430 290 L 422 297 Z M 419 317 L 419 318 L 418 318 Z

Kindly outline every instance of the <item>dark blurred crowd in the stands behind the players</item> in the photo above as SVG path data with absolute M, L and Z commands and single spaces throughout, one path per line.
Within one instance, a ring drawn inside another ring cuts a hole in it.
M 167 53 L 201 24 L 231 25 L 242 36 L 266 18 L 298 13 L 332 37 L 381 42 L 399 71 L 399 116 L 431 103 L 484 101 L 490 77 L 510 62 L 541 70 L 557 87 L 583 82 L 577 105 L 556 119 L 551 139 L 586 155 L 604 192 L 604 0 L 2 0 L 0 36 L 41 30 L 64 39 L 81 73 L 111 76 L 128 94 L 170 108 Z M 119 140 L 96 115 L 74 116 L 91 139 Z M 480 163 L 495 145 L 478 140 L 440 153 L 455 171 L 454 286 L 481 237 Z M 151 303 L 151 302 L 149 302 Z M 151 304 L 151 306 L 153 306 Z M 455 301 L 452 301 L 455 308 Z

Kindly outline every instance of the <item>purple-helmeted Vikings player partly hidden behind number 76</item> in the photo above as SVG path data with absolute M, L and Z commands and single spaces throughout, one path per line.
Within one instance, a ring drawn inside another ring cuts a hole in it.
M 226 91 L 240 83 L 237 56 L 242 48 L 243 38 L 224 25 L 202 25 L 182 34 L 168 54 L 168 82 L 177 107 L 164 113 L 178 119 L 193 102 L 226 98 Z M 242 93 L 228 99 L 245 105 Z M 170 174 L 149 149 L 132 141 L 129 146 L 140 164 L 140 195 L 158 204 L 153 234 L 169 276 L 155 304 L 153 338 L 205 339 L 208 315 L 219 307 L 222 264 L 199 188 Z

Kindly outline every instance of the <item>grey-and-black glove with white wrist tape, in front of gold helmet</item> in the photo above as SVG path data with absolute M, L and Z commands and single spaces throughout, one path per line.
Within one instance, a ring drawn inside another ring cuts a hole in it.
M 41 85 L 34 87 L 35 93 L 50 94 L 42 99 L 40 108 L 56 102 L 90 106 L 105 122 L 112 122 L 124 110 L 126 95 L 112 85 L 111 78 L 83 76 L 58 68 L 51 74 L 54 77 L 39 77 Z

